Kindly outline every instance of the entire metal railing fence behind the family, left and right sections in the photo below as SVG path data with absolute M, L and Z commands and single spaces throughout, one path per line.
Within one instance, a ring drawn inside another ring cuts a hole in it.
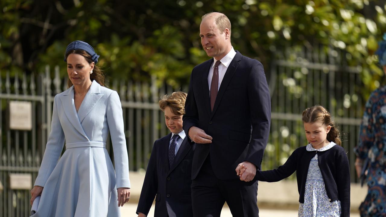
M 352 149 L 357 144 L 366 100 L 361 95 L 361 68 L 347 66 L 345 53 L 330 47 L 288 48 L 276 52 L 273 59 L 269 79 L 272 122 L 262 169 L 276 168 L 293 150 L 307 144 L 301 112 L 320 104 L 331 112 L 343 132 L 342 146 L 348 152 L 352 181 L 356 181 Z M 168 133 L 159 98 L 176 90 L 188 92 L 188 88 L 159 87 L 155 77 L 150 82 L 107 81 L 107 86 L 119 93 L 122 103 L 129 169 L 146 168 L 153 142 Z M 37 76 L 11 77 L 1 72 L 0 181 L 4 190 L 0 193 L 0 216 L 28 215 L 29 190 L 10 189 L 8 177 L 10 173 L 29 173 L 32 182 L 35 180 L 50 131 L 54 95 L 66 89 L 67 79 L 60 78 L 59 67 L 51 72 L 47 66 L 45 73 Z M 12 100 L 31 102 L 30 131 L 9 128 L 8 104 Z M 110 139 L 107 149 L 113 158 Z

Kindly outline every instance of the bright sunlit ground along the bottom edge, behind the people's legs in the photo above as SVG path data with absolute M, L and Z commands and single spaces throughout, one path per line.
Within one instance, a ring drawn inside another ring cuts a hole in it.
M 121 208 L 122 217 L 136 217 L 135 210 L 137 210 L 137 204 L 127 203 Z M 154 216 L 154 205 L 149 212 L 148 217 Z M 273 210 L 273 209 L 260 209 L 260 217 L 297 217 L 297 210 Z M 359 214 L 350 214 L 351 217 L 359 217 Z M 221 217 L 232 217 L 228 207 L 224 207 L 221 212 Z

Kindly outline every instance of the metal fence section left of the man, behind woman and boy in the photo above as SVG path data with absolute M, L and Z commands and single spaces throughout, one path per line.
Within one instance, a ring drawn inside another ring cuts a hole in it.
M 0 181 L 4 190 L 0 193 L 0 216 L 28 216 L 29 190 L 10 189 L 10 173 L 29 173 L 32 182 L 44 154 L 51 129 L 54 96 L 67 89 L 67 79 L 61 79 L 55 67 L 51 78 L 50 68 L 38 76 L 23 74 L 11 78 L 8 72 L 0 76 Z M 5 77 L 5 80 L 2 80 Z M 177 90 L 187 92 L 187 87 L 156 86 L 156 79 L 147 82 L 107 81 L 106 86 L 119 93 L 124 116 L 125 137 L 129 154 L 129 169 L 137 171 L 147 167 L 153 142 L 168 134 L 163 112 L 158 100 L 166 93 Z M 32 104 L 32 129 L 30 131 L 9 128 L 10 101 L 26 101 Z M 107 150 L 113 160 L 111 140 Z

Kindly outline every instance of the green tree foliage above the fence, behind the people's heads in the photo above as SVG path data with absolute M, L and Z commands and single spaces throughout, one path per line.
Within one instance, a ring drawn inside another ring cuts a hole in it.
M 49 64 L 66 76 L 65 47 L 83 40 L 101 55 L 98 64 L 109 77 L 156 75 L 186 84 L 193 66 L 208 59 L 198 37 L 201 16 L 219 11 L 232 22 L 235 49 L 266 69 L 282 47 L 325 44 L 344 49 L 347 63 L 362 67 L 366 90 L 383 76 L 372 55 L 386 29 L 384 1 L 4 0 L 0 10 L 2 71 L 40 72 Z

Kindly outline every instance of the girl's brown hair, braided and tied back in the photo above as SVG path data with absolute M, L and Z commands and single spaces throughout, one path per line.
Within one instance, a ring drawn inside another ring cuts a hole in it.
M 330 113 L 323 106 L 315 105 L 313 107 L 306 108 L 303 111 L 303 117 L 301 120 L 303 120 L 304 123 L 321 122 L 325 126 L 330 125 L 331 129 L 327 134 L 327 140 L 342 146 L 339 129 L 334 120 L 332 120 Z

